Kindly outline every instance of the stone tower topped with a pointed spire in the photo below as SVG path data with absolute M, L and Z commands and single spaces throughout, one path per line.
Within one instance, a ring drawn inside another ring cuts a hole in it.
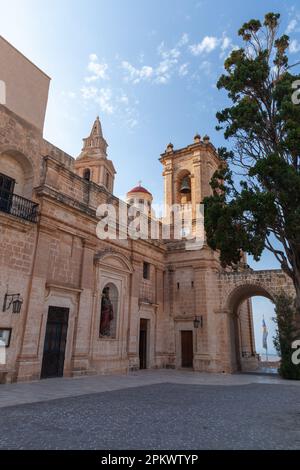
M 81 154 L 75 161 L 75 172 L 87 181 L 104 186 L 112 193 L 116 170 L 112 161 L 107 158 L 107 147 L 97 116 L 89 137 L 83 139 Z

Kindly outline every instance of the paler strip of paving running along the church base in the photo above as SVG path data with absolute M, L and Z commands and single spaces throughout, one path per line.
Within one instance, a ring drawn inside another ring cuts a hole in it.
M 0 385 L 0 408 L 167 382 L 217 386 L 253 383 L 300 386 L 300 381 L 282 380 L 278 376 L 208 374 L 188 370 L 144 370 L 128 375 L 58 378 Z

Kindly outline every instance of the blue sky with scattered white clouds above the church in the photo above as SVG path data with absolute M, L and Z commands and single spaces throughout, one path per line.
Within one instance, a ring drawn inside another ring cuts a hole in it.
M 279 12 L 291 58 L 300 55 L 296 0 L 0 0 L 0 8 L 0 34 L 52 78 L 45 138 L 77 156 L 99 114 L 115 193 L 142 180 L 156 202 L 170 141 L 183 147 L 199 132 L 224 144 L 215 113 L 227 101 L 215 84 L 239 27 Z M 250 263 L 277 267 L 268 254 Z M 271 312 L 267 305 L 257 309 Z

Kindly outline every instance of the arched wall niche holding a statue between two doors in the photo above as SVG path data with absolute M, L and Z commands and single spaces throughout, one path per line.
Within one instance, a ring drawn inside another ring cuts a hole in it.
M 102 290 L 100 311 L 100 338 L 115 338 L 117 333 L 119 294 L 116 286 L 109 282 Z

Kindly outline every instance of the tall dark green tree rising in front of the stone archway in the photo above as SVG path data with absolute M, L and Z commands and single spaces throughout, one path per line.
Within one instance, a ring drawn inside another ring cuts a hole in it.
M 293 103 L 289 37 L 279 36 L 279 14 L 239 30 L 244 47 L 226 59 L 217 86 L 231 106 L 217 113 L 231 150 L 219 149 L 213 195 L 204 200 L 208 245 L 222 265 L 235 266 L 242 252 L 258 261 L 273 253 L 292 279 L 300 309 L 300 104 Z M 294 84 L 294 85 L 293 85 Z

